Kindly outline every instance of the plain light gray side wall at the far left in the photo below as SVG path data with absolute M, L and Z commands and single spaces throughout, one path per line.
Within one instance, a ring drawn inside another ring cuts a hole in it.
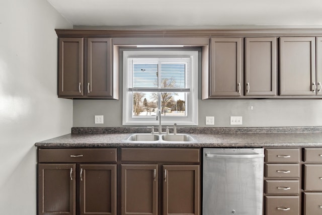
M 36 214 L 35 142 L 70 133 L 72 101 L 57 98 L 55 28 L 44 0 L 0 2 L 0 210 Z

